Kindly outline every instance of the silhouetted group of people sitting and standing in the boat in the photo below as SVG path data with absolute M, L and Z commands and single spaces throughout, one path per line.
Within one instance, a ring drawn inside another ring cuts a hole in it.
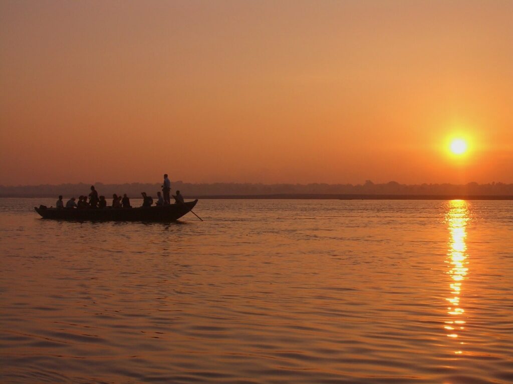
M 164 175 L 164 183 L 162 184 L 162 194 L 157 192 L 157 201 L 155 202 L 155 205 L 169 205 L 170 202 L 170 192 L 171 192 L 171 181 L 169 180 L 167 174 Z M 141 195 L 143 196 L 143 207 L 151 207 L 153 205 L 153 199 L 151 196 L 148 196 L 146 192 L 142 192 Z M 89 197 L 89 201 L 87 201 L 87 198 Z M 180 194 L 180 191 L 176 191 L 176 195 L 173 196 L 176 203 L 183 204 L 184 198 Z M 128 198 L 127 194 L 124 194 L 123 197 L 121 195 L 112 195 L 112 208 L 131 208 L 130 205 L 130 199 Z M 88 196 L 80 196 L 78 198 L 78 202 L 76 202 L 76 199 L 72 197 L 66 202 L 66 205 L 64 205 L 63 197 L 59 196 L 59 199 L 56 203 L 56 208 L 107 208 L 107 200 L 105 200 L 105 196 L 98 196 L 98 193 L 96 189 L 94 188 L 94 185 L 91 185 L 91 193 Z

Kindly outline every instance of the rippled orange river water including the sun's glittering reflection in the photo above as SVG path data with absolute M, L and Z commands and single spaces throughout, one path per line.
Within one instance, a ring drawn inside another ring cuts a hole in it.
M 3 383 L 513 382 L 513 202 L 40 203 L 0 199 Z

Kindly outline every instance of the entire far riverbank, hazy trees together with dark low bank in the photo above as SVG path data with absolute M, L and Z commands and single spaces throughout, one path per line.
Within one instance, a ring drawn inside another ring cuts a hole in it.
M 128 194 L 130 198 L 141 197 L 141 192 L 156 196 L 161 183 L 94 183 L 98 194 Z M 87 195 L 91 184 L 60 185 L 0 185 L 0 197 L 56 198 L 58 195 L 78 197 Z M 198 199 L 372 199 L 372 200 L 512 200 L 513 184 L 467 183 L 414 184 L 397 182 L 374 184 L 251 184 L 251 183 L 186 183 L 171 182 L 172 191 L 180 190 L 186 198 Z

